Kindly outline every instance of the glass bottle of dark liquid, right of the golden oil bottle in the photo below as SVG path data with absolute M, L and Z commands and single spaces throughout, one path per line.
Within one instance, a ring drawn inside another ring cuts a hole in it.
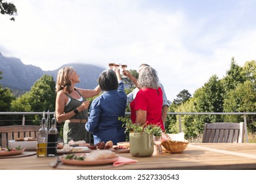
M 51 128 L 48 133 L 47 156 L 57 156 L 58 129 L 56 128 L 55 114 L 51 120 Z

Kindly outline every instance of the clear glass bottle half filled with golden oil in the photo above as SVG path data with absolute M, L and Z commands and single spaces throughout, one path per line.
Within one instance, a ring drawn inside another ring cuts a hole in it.
M 46 127 L 45 112 L 43 112 L 43 118 L 41 120 L 41 128 L 37 135 L 37 157 L 47 156 L 47 136 L 48 130 Z

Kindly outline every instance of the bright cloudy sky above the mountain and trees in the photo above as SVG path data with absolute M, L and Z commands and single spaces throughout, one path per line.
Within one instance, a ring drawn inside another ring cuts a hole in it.
M 212 75 L 222 78 L 232 57 L 240 66 L 256 59 L 253 0 L 12 2 L 16 21 L 0 16 L 3 55 L 45 71 L 75 62 L 107 68 L 112 59 L 128 69 L 148 63 L 171 101 Z

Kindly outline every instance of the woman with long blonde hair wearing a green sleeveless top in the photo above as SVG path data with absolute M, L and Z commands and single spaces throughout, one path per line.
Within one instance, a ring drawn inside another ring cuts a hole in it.
M 79 83 L 79 75 L 74 67 L 63 67 L 56 78 L 55 113 L 58 123 L 65 122 L 63 128 L 64 143 L 68 139 L 90 143 L 90 133 L 85 129 L 88 119 L 89 101 L 86 98 L 100 93 L 100 87 L 94 90 L 75 88 Z

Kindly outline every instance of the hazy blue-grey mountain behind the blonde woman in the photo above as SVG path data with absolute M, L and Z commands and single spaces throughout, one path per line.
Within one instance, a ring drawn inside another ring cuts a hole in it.
M 80 63 L 70 63 L 62 65 L 62 67 L 68 65 L 73 66 L 79 74 L 81 82 L 75 85 L 78 88 L 94 89 L 98 84 L 98 76 L 104 71 L 103 67 Z M 25 65 L 19 58 L 7 58 L 0 53 L 0 71 L 3 77 L 0 84 L 4 88 L 11 88 L 13 93 L 23 94 L 28 92 L 34 82 L 45 74 L 53 76 L 56 82 L 56 76 L 60 68 L 53 71 L 43 71 L 40 67 Z

